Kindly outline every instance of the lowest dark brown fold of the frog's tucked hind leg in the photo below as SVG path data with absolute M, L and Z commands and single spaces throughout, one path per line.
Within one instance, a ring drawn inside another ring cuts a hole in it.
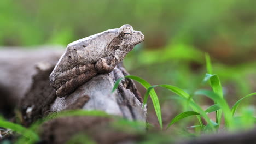
M 73 92 L 75 89 L 77 89 L 79 86 L 83 85 L 83 83 L 90 80 L 95 75 L 97 75 L 97 71 L 90 70 L 90 71 L 86 71 L 85 73 L 74 77 L 71 80 L 68 80 L 64 85 L 62 85 L 59 89 L 57 89 L 56 95 L 60 98 L 66 96 L 67 94 L 69 94 L 69 93 Z

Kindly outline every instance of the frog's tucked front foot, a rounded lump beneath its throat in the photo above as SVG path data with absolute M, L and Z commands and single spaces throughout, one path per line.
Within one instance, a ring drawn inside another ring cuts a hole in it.
M 95 69 L 98 73 L 110 73 L 118 64 L 117 58 L 114 56 L 107 56 L 101 58 L 96 64 Z

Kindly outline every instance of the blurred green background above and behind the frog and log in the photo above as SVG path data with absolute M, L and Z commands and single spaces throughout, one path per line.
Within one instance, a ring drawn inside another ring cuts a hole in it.
M 129 23 L 145 35 L 144 43 L 124 61 L 130 74 L 152 85 L 167 83 L 193 93 L 207 87 L 202 83 L 207 52 L 225 97 L 234 104 L 256 91 L 255 5 L 256 1 L 239 0 L 1 0 L 0 45 L 65 47 L 74 40 Z M 143 94 L 143 88 L 138 87 Z M 169 122 L 182 109 L 170 100 L 170 92 L 156 90 L 164 123 Z M 202 104 L 211 103 L 202 100 Z M 149 121 L 157 124 L 150 103 L 148 109 L 153 113 L 149 112 Z

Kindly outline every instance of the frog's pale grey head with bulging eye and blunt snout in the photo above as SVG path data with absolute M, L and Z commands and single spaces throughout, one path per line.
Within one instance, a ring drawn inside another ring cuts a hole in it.
M 123 25 L 118 29 L 119 38 L 123 45 L 136 45 L 144 41 L 141 31 L 134 31 L 131 25 Z

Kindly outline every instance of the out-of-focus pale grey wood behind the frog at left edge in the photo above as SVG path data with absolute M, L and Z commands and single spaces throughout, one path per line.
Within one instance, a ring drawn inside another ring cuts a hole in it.
M 55 64 L 63 51 L 60 46 L 0 47 L 0 113 L 12 116 L 12 110 L 31 87 L 36 65 Z

